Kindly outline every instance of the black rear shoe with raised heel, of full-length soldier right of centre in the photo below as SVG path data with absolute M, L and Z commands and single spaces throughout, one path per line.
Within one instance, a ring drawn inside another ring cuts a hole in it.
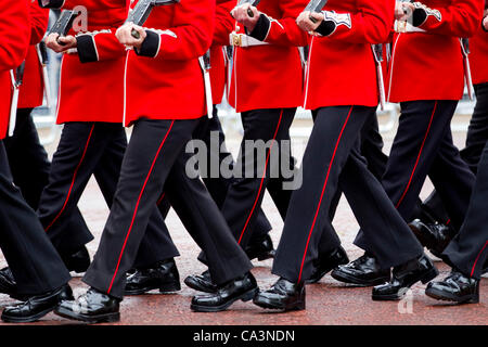
M 395 267 L 388 283 L 373 287 L 373 300 L 399 300 L 416 282 L 427 283 L 439 274 L 426 255 Z

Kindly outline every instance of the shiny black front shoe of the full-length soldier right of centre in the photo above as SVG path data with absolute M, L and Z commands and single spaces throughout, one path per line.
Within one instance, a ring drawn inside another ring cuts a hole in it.
M 293 283 L 280 278 L 271 288 L 259 292 L 253 303 L 262 308 L 275 310 L 305 310 L 304 282 Z

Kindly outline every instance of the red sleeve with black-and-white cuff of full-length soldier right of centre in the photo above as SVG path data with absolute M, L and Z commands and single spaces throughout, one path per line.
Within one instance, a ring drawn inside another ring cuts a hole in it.
M 358 0 L 357 13 L 335 12 L 325 8 L 317 33 L 351 43 L 383 43 L 395 21 L 395 0 Z

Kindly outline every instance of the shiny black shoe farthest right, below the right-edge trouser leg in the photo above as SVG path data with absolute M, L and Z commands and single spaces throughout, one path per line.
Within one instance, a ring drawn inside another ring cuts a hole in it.
M 479 280 L 452 270 L 442 281 L 428 283 L 425 294 L 438 300 L 477 304 L 479 303 Z

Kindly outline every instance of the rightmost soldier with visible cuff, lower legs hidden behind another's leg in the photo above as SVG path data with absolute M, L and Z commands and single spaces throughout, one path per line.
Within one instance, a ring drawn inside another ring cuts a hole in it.
M 393 40 L 387 93 L 389 101 L 400 102 L 401 116 L 382 183 L 400 215 L 410 222 L 428 175 L 451 223 L 459 229 L 475 177 L 452 143 L 450 123 L 464 90 L 460 38 L 473 36 L 478 29 L 483 3 L 460 0 L 402 4 L 410 9 L 412 20 L 404 28 L 407 22 L 397 22 L 397 31 L 406 33 L 397 33 Z M 425 63 L 418 64 L 414 56 Z M 376 257 L 362 231 L 355 244 L 367 250 L 367 257 Z M 362 262 L 361 257 L 339 271 L 357 284 L 384 274 L 381 269 L 361 267 Z M 388 292 L 389 286 L 376 288 L 375 297 L 381 298 L 384 291 Z

